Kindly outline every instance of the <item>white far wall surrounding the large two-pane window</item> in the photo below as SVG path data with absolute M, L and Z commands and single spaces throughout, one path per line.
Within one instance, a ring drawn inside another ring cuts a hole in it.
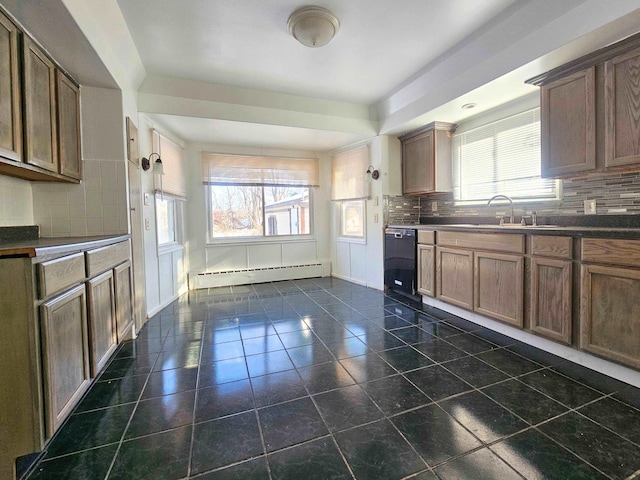
M 244 155 L 273 155 L 283 157 L 319 157 L 320 187 L 313 189 L 313 234 L 309 238 L 269 239 L 262 241 L 229 241 L 207 244 L 207 209 L 202 185 L 202 152 Z M 324 154 L 309 151 L 291 151 L 240 147 L 229 145 L 188 146 L 187 246 L 190 275 L 230 269 L 295 265 L 329 261 L 330 231 L 330 166 Z

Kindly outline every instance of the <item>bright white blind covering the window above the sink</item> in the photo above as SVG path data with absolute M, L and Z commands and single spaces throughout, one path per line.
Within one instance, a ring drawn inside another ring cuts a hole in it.
M 540 178 L 540 109 L 454 135 L 453 182 L 458 201 L 558 198 L 558 182 Z

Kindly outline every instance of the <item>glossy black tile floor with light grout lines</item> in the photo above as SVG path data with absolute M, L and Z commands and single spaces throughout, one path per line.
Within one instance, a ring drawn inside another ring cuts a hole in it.
M 42 479 L 640 478 L 638 389 L 323 278 L 191 292 L 122 345 Z

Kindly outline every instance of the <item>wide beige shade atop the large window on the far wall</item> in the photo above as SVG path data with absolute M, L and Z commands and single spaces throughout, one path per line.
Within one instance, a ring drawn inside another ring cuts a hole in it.
M 317 187 L 319 178 L 316 158 L 202 154 L 205 185 Z

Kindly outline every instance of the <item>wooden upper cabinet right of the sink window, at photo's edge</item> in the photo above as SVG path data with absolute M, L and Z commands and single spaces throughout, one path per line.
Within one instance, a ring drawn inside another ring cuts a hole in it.
M 543 177 L 640 170 L 640 33 L 527 83 L 541 87 Z

